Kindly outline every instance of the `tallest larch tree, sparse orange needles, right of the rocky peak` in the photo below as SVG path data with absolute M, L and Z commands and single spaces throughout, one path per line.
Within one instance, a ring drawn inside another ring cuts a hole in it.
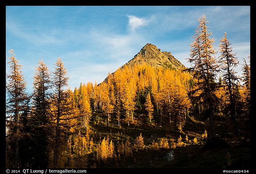
M 198 27 L 196 27 L 194 41 L 190 44 L 190 70 L 192 75 L 198 81 L 195 83 L 196 89 L 192 93 L 198 93 L 197 100 L 203 101 L 206 104 L 204 108 L 209 117 L 209 140 L 216 138 L 214 128 L 214 106 L 217 100 L 215 91 L 217 89 L 216 74 L 218 73 L 218 65 L 215 57 L 216 50 L 214 48 L 214 38 L 211 38 L 212 32 L 209 31 L 206 25 L 205 15 L 198 19 Z M 201 100 L 202 99 L 202 100 Z

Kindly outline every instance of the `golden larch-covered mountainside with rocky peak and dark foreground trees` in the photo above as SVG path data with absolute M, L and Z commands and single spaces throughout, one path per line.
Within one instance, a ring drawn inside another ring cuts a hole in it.
M 61 58 L 53 72 L 41 59 L 28 94 L 10 50 L 6 167 L 248 168 L 250 64 L 238 77 L 226 33 L 216 58 L 198 22 L 190 68 L 147 44 L 105 81 L 73 90 Z

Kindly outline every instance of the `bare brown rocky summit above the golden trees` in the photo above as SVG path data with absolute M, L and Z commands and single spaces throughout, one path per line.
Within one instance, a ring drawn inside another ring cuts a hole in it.
M 185 69 L 185 66 L 181 64 L 170 52 L 163 51 L 161 52 L 155 45 L 151 43 L 146 44 L 138 54 L 134 56 L 129 62 L 125 65 L 133 66 L 134 64 L 142 65 L 148 64 L 154 67 L 159 66 L 171 66 L 178 70 Z M 122 66 L 121 68 L 123 68 Z

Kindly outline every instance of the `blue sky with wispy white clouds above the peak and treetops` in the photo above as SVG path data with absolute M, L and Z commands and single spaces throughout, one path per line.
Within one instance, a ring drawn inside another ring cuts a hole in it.
M 227 32 L 241 74 L 250 54 L 250 6 L 6 6 L 6 72 L 13 49 L 32 92 L 38 60 L 54 71 L 61 57 L 73 90 L 80 82 L 100 83 L 147 43 L 190 67 L 189 44 L 204 14 L 216 50 Z

